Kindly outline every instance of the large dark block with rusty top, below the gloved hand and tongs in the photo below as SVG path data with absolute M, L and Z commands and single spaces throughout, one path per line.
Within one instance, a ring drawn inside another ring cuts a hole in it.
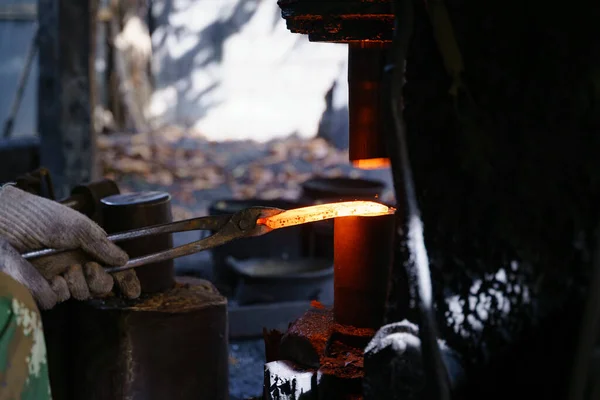
M 227 299 L 208 281 L 73 306 L 70 399 L 228 399 Z

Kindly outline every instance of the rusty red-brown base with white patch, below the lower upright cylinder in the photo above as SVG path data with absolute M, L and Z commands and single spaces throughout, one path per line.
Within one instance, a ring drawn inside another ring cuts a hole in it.
M 362 398 L 363 351 L 375 330 L 339 324 L 333 314 L 316 304 L 282 337 L 277 331 L 266 335 L 276 357 L 265 365 L 264 399 Z

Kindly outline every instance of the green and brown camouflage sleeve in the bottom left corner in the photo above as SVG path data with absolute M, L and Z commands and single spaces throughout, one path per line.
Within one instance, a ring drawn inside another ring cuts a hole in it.
M 51 398 L 40 312 L 27 288 L 0 272 L 0 400 Z

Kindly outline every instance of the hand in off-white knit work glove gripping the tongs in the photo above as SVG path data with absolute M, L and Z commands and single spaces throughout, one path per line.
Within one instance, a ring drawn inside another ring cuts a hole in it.
M 114 281 L 128 298 L 140 295 L 133 270 L 107 274 L 97 263 L 121 266 L 127 254 L 85 215 L 52 200 L 4 186 L 0 189 L 0 271 L 27 286 L 43 309 L 70 297 L 86 300 L 110 292 Z M 20 253 L 69 249 L 30 264 Z M 113 281 L 114 278 L 114 281 Z

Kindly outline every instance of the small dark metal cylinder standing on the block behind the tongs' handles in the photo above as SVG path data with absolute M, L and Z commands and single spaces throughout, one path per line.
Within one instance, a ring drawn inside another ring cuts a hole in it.
M 165 192 L 119 194 L 102 199 L 104 229 L 117 233 L 171 222 L 171 196 Z M 173 247 L 171 234 L 119 243 L 130 257 L 140 257 Z M 173 260 L 136 268 L 142 293 L 168 290 L 175 284 Z

